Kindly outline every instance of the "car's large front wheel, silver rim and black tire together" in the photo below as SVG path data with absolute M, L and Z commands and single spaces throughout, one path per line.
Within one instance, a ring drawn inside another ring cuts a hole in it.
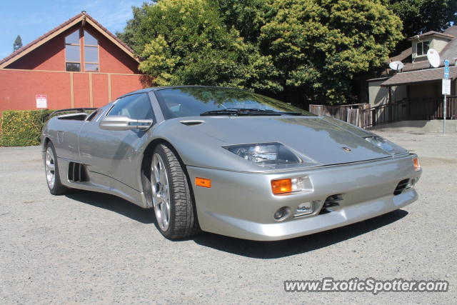
M 151 188 L 154 213 L 161 234 L 168 239 L 183 239 L 199 231 L 184 169 L 174 152 L 164 144 L 154 149 Z

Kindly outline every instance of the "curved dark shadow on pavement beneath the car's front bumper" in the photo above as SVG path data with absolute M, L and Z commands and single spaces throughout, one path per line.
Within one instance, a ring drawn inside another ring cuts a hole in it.
M 356 224 L 283 241 L 248 241 L 210 233 L 196 236 L 194 241 L 201 246 L 208 246 L 241 256 L 255 259 L 278 259 L 321 249 L 366 234 L 369 231 L 392 224 L 406 215 L 408 215 L 407 211 L 396 210 Z

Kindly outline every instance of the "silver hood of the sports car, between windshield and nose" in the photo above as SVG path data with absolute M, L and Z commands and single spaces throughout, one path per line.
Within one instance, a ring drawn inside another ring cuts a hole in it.
M 258 144 L 279 142 L 294 151 L 301 159 L 311 161 L 313 166 L 345 164 L 356 161 L 381 159 L 391 156 L 378 146 L 363 139 L 363 136 L 373 136 L 368 131 L 322 116 L 206 116 L 173 119 L 180 121 L 179 130 L 181 142 L 196 141 L 206 151 L 206 161 L 196 162 L 191 158 L 191 165 L 209 167 L 238 167 L 228 162 L 219 161 L 219 165 L 211 164 L 214 151 L 211 146 L 226 159 L 236 159 L 244 166 L 251 167 L 251 162 L 233 155 L 222 146 L 234 144 Z M 201 124 L 182 124 L 184 121 L 203 121 Z M 177 123 L 177 122 L 176 122 Z M 352 130 L 351 130 L 352 129 Z M 351 131 L 348 131 L 351 130 Z M 191 131 L 191 133 L 189 133 Z M 186 139 L 184 139 L 186 138 Z M 190 148 L 189 148 L 190 149 Z M 183 154 L 195 154 L 186 151 Z M 227 158 L 230 156 L 229 158 Z M 231 158 L 233 157 L 233 158 Z M 198 163 L 198 164 L 195 164 Z M 208 164 L 209 163 L 209 164 Z M 309 162 L 306 162 L 309 164 Z M 221 164 L 227 164 L 222 166 Z M 248 165 L 249 164 L 249 165 Z M 304 164 L 302 165 L 304 166 Z M 257 166 L 258 167 L 258 166 Z

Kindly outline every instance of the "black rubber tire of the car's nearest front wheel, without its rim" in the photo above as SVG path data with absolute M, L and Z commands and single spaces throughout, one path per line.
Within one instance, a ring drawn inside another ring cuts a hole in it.
M 189 181 L 183 165 L 181 165 L 174 151 L 164 144 L 156 146 L 153 159 L 155 154 L 159 154 L 162 161 L 164 161 L 166 175 L 169 181 L 170 198 L 168 229 L 162 229 L 159 224 L 157 224 L 157 227 L 167 239 L 184 239 L 194 236 L 199 233 L 200 227 L 194 199 L 189 189 Z M 152 171 L 151 175 L 154 175 Z M 152 177 L 151 181 L 153 181 Z

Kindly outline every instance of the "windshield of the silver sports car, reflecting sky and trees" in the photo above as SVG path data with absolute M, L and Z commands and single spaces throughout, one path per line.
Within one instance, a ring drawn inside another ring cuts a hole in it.
M 156 96 L 165 119 L 181 116 L 314 116 L 282 101 L 241 89 L 176 87 L 159 89 Z

